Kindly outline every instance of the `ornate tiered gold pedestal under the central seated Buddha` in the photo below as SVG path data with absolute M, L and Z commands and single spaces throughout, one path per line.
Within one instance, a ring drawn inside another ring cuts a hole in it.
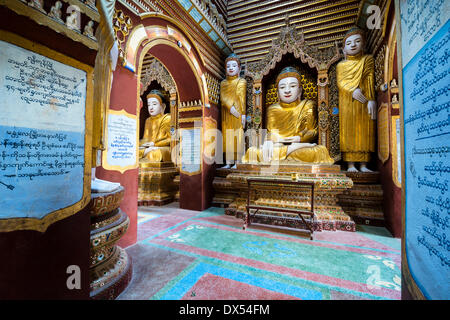
M 277 167 L 261 164 L 240 164 L 237 170 L 229 173 L 225 180 L 226 190 L 233 190 L 237 193 L 234 200 L 230 202 L 226 214 L 235 215 L 237 218 L 244 218 L 246 215 L 245 206 L 247 204 L 247 179 L 259 177 L 265 179 L 293 178 L 301 181 L 313 181 L 315 188 L 314 195 L 314 230 L 344 230 L 355 231 L 355 222 L 347 215 L 338 204 L 338 195 L 353 186 L 352 180 L 345 173 L 340 171 L 337 165 L 313 165 L 298 163 L 283 163 Z M 216 183 L 216 186 L 219 184 Z M 228 193 L 231 194 L 231 193 Z M 293 189 L 289 187 L 274 186 L 267 184 L 256 190 L 256 196 L 251 202 L 262 206 L 275 206 L 285 208 L 310 209 L 310 190 Z M 279 214 L 276 219 L 267 219 L 264 212 L 260 211 L 253 222 L 268 223 L 285 227 L 298 227 L 301 223 L 297 221 L 294 214 Z M 271 213 L 273 215 L 273 213 Z M 259 221 L 258 221 L 259 219 Z

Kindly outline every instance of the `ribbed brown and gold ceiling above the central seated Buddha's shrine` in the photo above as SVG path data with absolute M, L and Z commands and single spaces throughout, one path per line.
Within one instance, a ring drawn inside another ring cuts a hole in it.
M 242 61 L 254 62 L 268 53 L 286 17 L 302 30 L 311 46 L 326 48 L 341 41 L 356 24 L 360 0 L 228 0 L 227 33 Z

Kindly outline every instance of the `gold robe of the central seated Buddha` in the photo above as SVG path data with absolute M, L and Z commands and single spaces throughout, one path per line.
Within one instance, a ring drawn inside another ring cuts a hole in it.
M 314 113 L 315 104 L 311 100 L 295 101 L 289 104 L 280 102 L 271 105 L 267 111 L 267 131 L 269 139 L 300 136 L 301 143 L 313 143 L 318 135 L 318 123 Z M 309 163 L 333 164 L 328 149 L 322 145 L 304 147 L 291 152 L 288 146 L 275 144 L 273 160 L 293 160 Z M 244 163 L 263 161 L 262 148 L 251 147 L 247 150 Z

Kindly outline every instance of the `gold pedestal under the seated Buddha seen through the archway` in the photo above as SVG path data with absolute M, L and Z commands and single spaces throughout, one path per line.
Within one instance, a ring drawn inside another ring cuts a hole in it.
M 174 178 L 178 169 L 172 162 L 139 163 L 138 205 L 162 206 L 175 200 Z

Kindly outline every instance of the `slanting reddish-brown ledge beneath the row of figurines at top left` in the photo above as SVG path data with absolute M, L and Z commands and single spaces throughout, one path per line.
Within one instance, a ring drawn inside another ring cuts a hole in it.
M 90 49 L 98 50 L 98 43 L 96 41 L 92 40 L 88 36 L 67 28 L 65 24 L 53 20 L 46 14 L 33 9 L 19 0 L 0 0 L 0 5 L 6 6 L 19 15 L 26 16 L 40 25 L 44 25 L 58 33 L 62 33 L 70 39 L 80 42 Z

